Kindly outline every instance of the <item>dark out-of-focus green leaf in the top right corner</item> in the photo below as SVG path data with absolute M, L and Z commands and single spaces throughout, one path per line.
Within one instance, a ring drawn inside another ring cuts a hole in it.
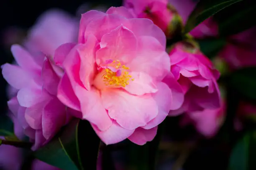
M 256 17 L 255 1 L 241 1 L 228 7 L 227 10 L 228 13 L 221 11 L 216 15 L 220 36 L 233 35 L 255 25 L 255 22 L 249 19 Z

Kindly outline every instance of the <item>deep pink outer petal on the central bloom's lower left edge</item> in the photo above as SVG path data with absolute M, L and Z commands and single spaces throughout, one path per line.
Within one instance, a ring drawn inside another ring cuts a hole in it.
M 74 94 L 67 74 L 64 74 L 59 83 L 57 97 L 66 106 L 78 111 L 81 110 L 80 102 L 77 99 L 77 96 Z

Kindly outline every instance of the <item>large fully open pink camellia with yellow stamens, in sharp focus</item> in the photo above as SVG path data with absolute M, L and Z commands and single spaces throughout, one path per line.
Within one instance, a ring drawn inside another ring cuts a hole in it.
M 82 14 L 77 44 L 56 49 L 54 61 L 66 71 L 58 98 L 81 111 L 106 144 L 126 138 L 143 145 L 154 138 L 169 110 L 183 102 L 181 86 L 162 82 L 170 72 L 166 37 L 151 20 L 124 8 Z

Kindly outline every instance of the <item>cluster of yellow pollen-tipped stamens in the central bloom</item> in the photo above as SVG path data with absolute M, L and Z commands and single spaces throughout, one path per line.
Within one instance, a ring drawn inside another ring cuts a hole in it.
M 104 74 L 102 75 L 102 79 L 105 85 L 125 87 L 129 84 L 129 81 L 132 77 L 128 72 L 129 69 L 129 67 L 121 65 L 119 60 L 112 61 L 112 63 L 109 63 L 109 66 L 104 70 Z M 131 80 L 133 81 L 134 79 Z

